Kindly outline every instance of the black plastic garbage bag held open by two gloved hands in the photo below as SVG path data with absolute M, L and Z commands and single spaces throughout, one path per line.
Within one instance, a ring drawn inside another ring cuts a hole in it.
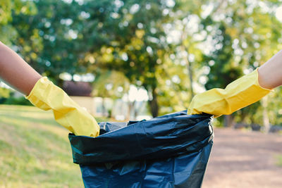
M 211 115 L 99 123 L 99 137 L 69 134 L 85 187 L 201 187 L 213 144 Z M 124 127 L 125 126 L 125 127 Z

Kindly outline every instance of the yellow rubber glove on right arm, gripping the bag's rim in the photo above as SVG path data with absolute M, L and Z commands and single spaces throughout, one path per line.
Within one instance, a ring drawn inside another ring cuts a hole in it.
M 192 99 L 188 114 L 209 113 L 219 117 L 259 101 L 271 90 L 259 86 L 258 77 L 257 70 L 254 70 L 228 84 L 226 89 L 216 88 L 197 94 Z

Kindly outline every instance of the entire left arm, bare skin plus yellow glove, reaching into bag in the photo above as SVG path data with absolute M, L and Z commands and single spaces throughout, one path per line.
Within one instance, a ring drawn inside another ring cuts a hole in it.
M 0 77 L 28 95 L 26 98 L 44 111 L 53 111 L 55 120 L 76 135 L 99 136 L 96 120 L 75 103 L 63 89 L 42 77 L 23 58 L 0 42 Z

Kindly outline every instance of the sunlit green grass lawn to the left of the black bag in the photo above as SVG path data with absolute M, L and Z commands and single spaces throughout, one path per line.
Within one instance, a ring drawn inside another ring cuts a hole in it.
M 68 130 L 51 112 L 0 105 L 0 132 L 0 188 L 83 187 Z

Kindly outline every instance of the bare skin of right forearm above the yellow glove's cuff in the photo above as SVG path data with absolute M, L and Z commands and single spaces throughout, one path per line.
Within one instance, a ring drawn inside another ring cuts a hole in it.
M 282 84 L 282 50 L 259 68 L 259 84 L 267 89 Z

